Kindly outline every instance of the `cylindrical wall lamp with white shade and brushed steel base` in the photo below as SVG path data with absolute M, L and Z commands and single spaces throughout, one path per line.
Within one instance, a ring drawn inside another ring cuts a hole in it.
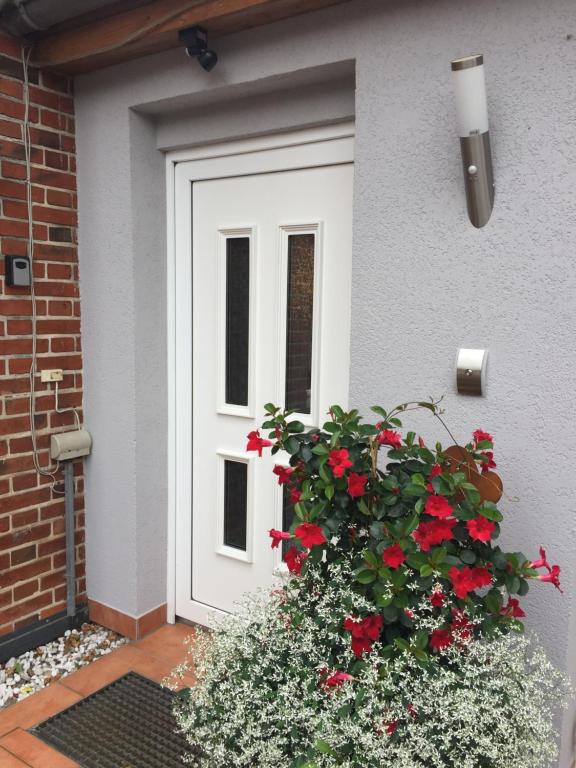
M 475 54 L 455 59 L 452 62 L 452 76 L 456 91 L 468 216 L 472 224 L 480 228 L 488 222 L 494 206 L 484 57 Z

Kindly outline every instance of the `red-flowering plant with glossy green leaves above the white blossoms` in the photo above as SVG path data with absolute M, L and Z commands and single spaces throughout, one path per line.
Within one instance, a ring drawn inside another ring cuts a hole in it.
M 272 431 L 264 442 L 290 455 L 290 466 L 274 472 L 296 502 L 292 530 L 272 529 L 272 545 L 293 540 L 286 563 L 298 575 L 350 555 L 354 588 L 372 605 L 370 615 L 342 617 L 358 657 L 381 637 L 384 656 L 408 650 L 426 661 L 472 620 L 483 634 L 521 630 L 518 598 L 530 580 L 560 589 L 560 568 L 543 549 L 531 561 L 496 543 L 503 515 L 492 436 L 477 429 L 466 446 L 447 449 L 413 432 L 403 438 L 398 416 L 414 407 L 440 417 L 437 403 L 407 403 L 389 413 L 374 407 L 380 421 L 364 424 L 357 411 L 333 406 L 322 429 L 305 431 L 290 412 L 266 406 L 263 429 Z M 422 598 L 444 620 L 429 637 L 412 615 Z

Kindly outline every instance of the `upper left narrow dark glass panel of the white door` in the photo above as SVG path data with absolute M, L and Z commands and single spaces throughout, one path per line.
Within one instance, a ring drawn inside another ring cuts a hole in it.
M 226 402 L 248 405 L 250 238 L 226 240 Z

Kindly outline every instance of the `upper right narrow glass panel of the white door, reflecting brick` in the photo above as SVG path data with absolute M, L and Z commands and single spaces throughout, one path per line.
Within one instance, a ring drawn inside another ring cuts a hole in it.
M 286 408 L 310 413 L 314 319 L 313 234 L 288 236 Z

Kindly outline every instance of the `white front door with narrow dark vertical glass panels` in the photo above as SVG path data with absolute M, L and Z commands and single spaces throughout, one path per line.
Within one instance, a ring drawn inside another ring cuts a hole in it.
M 290 507 L 271 470 L 288 457 L 245 450 L 263 405 L 294 408 L 308 425 L 346 405 L 351 153 L 340 138 L 176 168 L 177 261 L 191 265 L 176 279 L 192 284 L 191 392 L 182 392 L 191 503 L 176 520 L 183 618 L 206 623 L 210 609 L 232 611 L 274 581 L 281 551 L 268 530 L 286 524 Z

